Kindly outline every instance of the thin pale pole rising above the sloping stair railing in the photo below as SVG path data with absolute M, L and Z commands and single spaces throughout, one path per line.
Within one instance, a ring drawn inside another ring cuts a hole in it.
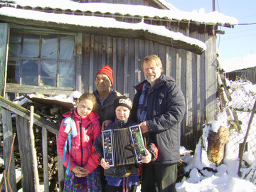
M 40 188 L 39 188 L 39 178 L 38 178 L 38 169 L 37 169 L 38 164 L 37 164 L 37 158 L 36 158 L 35 137 L 33 134 L 33 110 L 34 110 L 34 107 L 33 107 L 33 105 L 31 105 L 30 122 L 29 122 L 29 136 L 31 139 L 31 151 L 32 151 L 32 159 L 33 159 L 33 171 L 34 171 L 36 192 L 39 192 Z

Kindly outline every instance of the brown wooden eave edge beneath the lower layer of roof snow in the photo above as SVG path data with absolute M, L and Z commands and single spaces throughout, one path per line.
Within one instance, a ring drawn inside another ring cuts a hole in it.
M 166 36 L 159 36 L 155 33 L 143 30 L 132 30 L 125 28 L 110 28 L 110 27 L 95 27 L 95 26 L 79 26 L 70 23 L 56 23 L 53 21 L 36 21 L 33 19 L 17 18 L 11 16 L 1 15 L 1 21 L 7 23 L 16 23 L 24 26 L 33 26 L 38 28 L 48 28 L 59 31 L 70 31 L 74 33 L 89 33 L 102 36 L 114 36 L 114 37 L 124 37 L 124 38 L 138 38 L 149 41 L 154 41 L 156 43 L 161 43 L 166 46 L 171 46 L 173 48 L 181 48 L 184 50 L 189 50 L 193 53 L 201 55 L 205 50 L 201 46 L 188 43 L 182 40 L 174 40 Z

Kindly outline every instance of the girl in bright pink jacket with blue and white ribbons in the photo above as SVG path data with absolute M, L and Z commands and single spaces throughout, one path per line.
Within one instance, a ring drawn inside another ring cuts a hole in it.
M 96 97 L 84 93 L 77 107 L 63 114 L 58 134 L 58 153 L 67 168 L 64 191 L 101 191 L 100 171 L 92 158 L 92 146 L 100 134 L 99 116 L 92 112 Z

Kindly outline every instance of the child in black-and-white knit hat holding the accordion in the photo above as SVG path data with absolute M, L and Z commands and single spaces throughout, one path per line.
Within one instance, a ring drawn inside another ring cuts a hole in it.
M 135 125 L 129 119 L 130 110 L 132 108 L 132 101 L 129 97 L 118 97 L 114 100 L 114 109 L 116 114 L 115 121 L 105 127 L 107 129 L 120 129 L 124 127 L 130 127 Z M 103 158 L 102 148 L 102 135 L 97 137 L 94 144 L 95 156 L 97 156 L 98 163 L 105 169 L 105 176 L 107 181 L 106 191 L 107 192 L 119 192 L 129 191 L 135 192 L 137 185 L 139 184 L 140 166 L 132 166 L 132 170 L 129 171 L 130 166 L 109 166 L 109 163 Z M 142 163 L 148 164 L 150 161 L 154 161 L 157 157 L 157 149 L 152 142 L 149 142 L 146 149 L 146 156 L 142 157 Z M 95 158 L 96 159 L 96 158 Z M 129 173 L 129 174 L 127 174 Z

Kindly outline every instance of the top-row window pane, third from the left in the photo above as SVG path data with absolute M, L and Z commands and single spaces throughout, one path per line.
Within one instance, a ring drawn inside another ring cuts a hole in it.
M 58 35 L 42 36 L 41 58 L 58 58 Z

